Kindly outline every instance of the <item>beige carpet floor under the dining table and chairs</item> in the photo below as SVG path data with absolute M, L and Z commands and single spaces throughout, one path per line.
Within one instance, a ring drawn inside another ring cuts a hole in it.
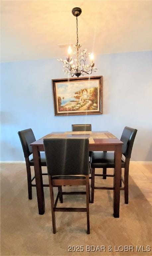
M 42 171 L 46 172 L 46 168 Z M 46 183 L 48 177 L 44 179 Z M 95 177 L 95 183 L 98 186 L 112 185 L 113 179 Z M 77 191 L 77 187 L 66 186 L 63 190 Z M 84 187 L 79 190 L 84 190 Z M 54 191 L 56 194 L 56 188 Z M 151 205 L 131 177 L 128 205 L 124 204 L 124 191 L 120 192 L 119 218 L 113 217 L 113 192 L 95 190 L 94 204 L 89 204 L 90 235 L 86 234 L 87 219 L 84 212 L 56 212 L 57 232 L 53 234 L 47 187 L 44 188 L 44 196 L 45 213 L 38 215 L 35 187 L 33 199 L 28 200 L 25 164 L 1 165 L 2 256 L 152 255 L 152 248 L 148 252 L 147 247 L 146 251 L 146 246 L 151 246 L 152 238 Z M 85 200 L 85 195 L 64 195 L 63 204 L 59 202 L 58 207 L 85 207 Z M 122 251 L 124 246 L 129 245 L 133 246 L 133 250 L 131 247 L 130 251 Z M 83 251 L 79 251 L 79 247 L 72 247 L 72 251 L 68 252 L 68 246 L 82 246 L 80 250 Z M 89 246 L 94 246 L 93 251 L 87 251 L 86 246 L 88 250 Z M 105 246 L 102 252 L 98 250 L 101 246 Z

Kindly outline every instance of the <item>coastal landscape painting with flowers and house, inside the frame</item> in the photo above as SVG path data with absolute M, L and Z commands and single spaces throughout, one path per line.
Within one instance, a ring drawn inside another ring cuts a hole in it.
M 56 84 L 58 111 L 97 111 L 99 81 L 87 80 Z

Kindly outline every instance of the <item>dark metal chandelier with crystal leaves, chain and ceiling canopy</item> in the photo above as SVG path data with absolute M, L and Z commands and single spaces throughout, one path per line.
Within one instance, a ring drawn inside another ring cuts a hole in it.
M 96 72 L 97 68 L 93 62 L 94 56 L 93 53 L 87 53 L 87 49 L 81 51 L 81 45 L 79 44 L 78 38 L 78 16 L 81 14 L 82 10 L 79 7 L 72 9 L 72 14 L 76 17 L 76 29 L 77 29 L 77 44 L 73 45 L 73 51 L 71 46 L 68 48 L 68 58 L 66 60 L 57 59 L 58 61 L 63 62 L 63 71 L 65 74 L 84 76 L 85 74 L 91 75 L 92 71 Z M 73 57 L 71 56 L 73 55 Z M 87 59 L 90 57 L 91 63 L 87 64 Z

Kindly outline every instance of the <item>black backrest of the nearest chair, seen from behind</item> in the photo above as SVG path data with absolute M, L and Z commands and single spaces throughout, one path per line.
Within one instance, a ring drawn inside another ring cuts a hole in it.
M 88 175 L 89 139 L 44 139 L 48 175 Z

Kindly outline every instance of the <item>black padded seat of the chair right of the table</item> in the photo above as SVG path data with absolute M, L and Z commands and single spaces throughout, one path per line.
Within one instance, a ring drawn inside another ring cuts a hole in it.
M 124 168 L 125 162 L 121 159 L 121 167 Z M 114 153 L 94 151 L 91 154 L 91 168 L 114 168 Z

